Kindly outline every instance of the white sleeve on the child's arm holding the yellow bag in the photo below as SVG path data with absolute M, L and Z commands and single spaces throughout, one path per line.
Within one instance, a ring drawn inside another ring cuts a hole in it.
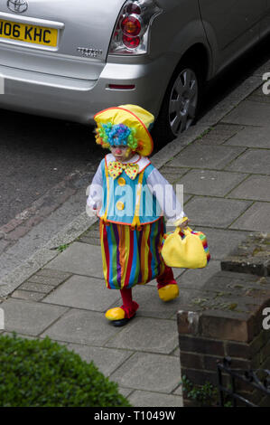
M 148 175 L 146 183 L 160 204 L 167 224 L 175 225 L 175 222 L 186 217 L 182 209 L 182 202 L 180 202 L 182 192 L 176 195 L 172 184 L 156 168 Z

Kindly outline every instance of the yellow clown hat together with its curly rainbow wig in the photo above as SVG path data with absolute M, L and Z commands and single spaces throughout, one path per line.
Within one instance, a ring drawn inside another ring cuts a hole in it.
M 153 151 L 153 139 L 148 131 L 154 115 L 136 105 L 123 105 L 98 112 L 96 142 L 106 148 L 128 146 L 141 156 Z

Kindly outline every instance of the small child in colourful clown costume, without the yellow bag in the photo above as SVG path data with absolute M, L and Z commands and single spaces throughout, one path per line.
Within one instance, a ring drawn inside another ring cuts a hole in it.
M 107 310 L 114 326 L 123 326 L 139 307 L 132 288 L 157 280 L 163 301 L 179 296 L 172 269 L 160 254 L 165 232 L 164 215 L 175 226 L 185 228 L 188 218 L 172 186 L 151 164 L 153 151 L 148 128 L 154 116 L 135 105 L 98 112 L 96 141 L 110 149 L 98 166 L 88 194 L 88 211 L 97 213 L 104 277 L 107 288 L 120 290 L 123 305 Z M 174 205 L 172 209 L 172 204 Z

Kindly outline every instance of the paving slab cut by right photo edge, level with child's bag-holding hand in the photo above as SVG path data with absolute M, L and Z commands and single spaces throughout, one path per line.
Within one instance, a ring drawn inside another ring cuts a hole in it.
M 230 229 L 252 231 L 269 231 L 270 229 L 270 203 L 254 203 Z

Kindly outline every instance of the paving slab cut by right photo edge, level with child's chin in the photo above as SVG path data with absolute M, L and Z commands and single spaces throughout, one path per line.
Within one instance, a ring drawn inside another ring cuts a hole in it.
M 247 149 L 226 170 L 242 173 L 270 175 L 270 149 Z

